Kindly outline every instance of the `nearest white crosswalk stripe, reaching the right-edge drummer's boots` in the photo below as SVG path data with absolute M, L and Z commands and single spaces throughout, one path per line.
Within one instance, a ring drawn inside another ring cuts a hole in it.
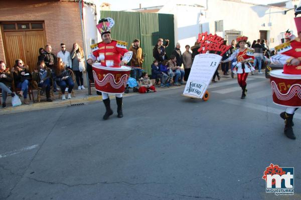
M 283 106 L 283 109 L 278 109 L 278 108 L 273 108 L 273 107 L 269 107 L 269 106 L 265 106 L 265 105 L 259 105 L 259 104 L 255 104 L 255 103 L 248 103 L 248 102 L 245 102 L 244 100 L 236 100 L 236 99 L 232 99 L 232 98 L 222 100 L 222 102 L 230 103 L 230 104 L 233 104 L 233 105 L 239 105 L 239 106 L 243 106 L 243 107 L 247 107 L 247 108 L 251 108 L 251 109 L 256 109 L 256 110 L 260 110 L 260 111 L 263 111 L 263 112 L 274 113 L 274 114 L 280 114 L 281 112 L 283 112 L 285 110 L 284 106 Z M 297 118 L 297 119 L 301 119 L 301 114 L 296 112 L 293 115 L 293 117 Z

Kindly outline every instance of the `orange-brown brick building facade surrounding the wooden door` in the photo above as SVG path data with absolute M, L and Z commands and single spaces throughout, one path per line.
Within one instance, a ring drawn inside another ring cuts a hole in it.
M 16 22 L 16 30 L 19 30 L 18 22 L 35 21 L 42 22 L 44 28 L 45 40 L 43 43 L 51 44 L 52 52 L 57 54 L 60 51 L 60 43 L 66 44 L 67 50 L 71 51 L 72 44 L 78 42 L 83 47 L 79 3 L 75 0 L 2 0 L 0 1 L 0 23 Z M 3 26 L 0 26 L 2 28 Z M 25 27 L 25 26 L 24 26 Z M 32 28 L 32 26 L 30 25 Z M 8 30 L 4 28 L 0 31 L 0 60 L 15 60 L 19 57 L 13 57 L 8 52 L 8 40 L 5 40 L 5 34 Z M 32 29 L 31 32 L 35 30 Z M 26 30 L 24 31 L 26 32 Z M 7 41 L 7 42 L 6 42 Z M 20 42 L 19 42 L 20 43 Z M 23 44 L 20 44 L 24 46 Z M 40 47 L 45 47 L 40 46 Z M 35 47 L 36 48 L 36 47 Z M 32 55 L 38 57 L 38 49 L 35 49 Z M 27 51 L 28 52 L 28 51 Z M 9 58 L 9 56 L 11 56 Z M 9 66 L 11 67 L 11 66 Z

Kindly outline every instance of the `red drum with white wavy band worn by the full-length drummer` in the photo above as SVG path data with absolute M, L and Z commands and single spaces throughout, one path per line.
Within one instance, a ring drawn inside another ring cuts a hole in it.
M 130 67 L 107 67 L 93 63 L 95 88 L 106 93 L 123 93 L 130 73 Z

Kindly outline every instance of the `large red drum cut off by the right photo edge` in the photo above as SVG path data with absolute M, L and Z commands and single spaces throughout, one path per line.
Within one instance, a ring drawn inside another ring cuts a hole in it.
M 273 101 L 288 107 L 301 107 L 301 75 L 285 74 L 282 69 L 271 70 Z

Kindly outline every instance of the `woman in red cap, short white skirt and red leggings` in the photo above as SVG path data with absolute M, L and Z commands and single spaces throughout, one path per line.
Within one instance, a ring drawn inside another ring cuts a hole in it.
M 237 61 L 233 62 L 233 73 L 237 73 L 237 81 L 242 89 L 241 98 L 245 98 L 245 96 L 247 95 L 246 80 L 248 73 L 255 70 L 254 66 L 252 65 L 254 60 L 254 49 L 245 46 L 247 40 L 248 37 L 246 36 L 237 37 L 236 41 L 238 42 L 240 47 L 236 49 L 228 59 L 221 61 L 225 63 L 233 60 L 235 57 L 237 58 Z

